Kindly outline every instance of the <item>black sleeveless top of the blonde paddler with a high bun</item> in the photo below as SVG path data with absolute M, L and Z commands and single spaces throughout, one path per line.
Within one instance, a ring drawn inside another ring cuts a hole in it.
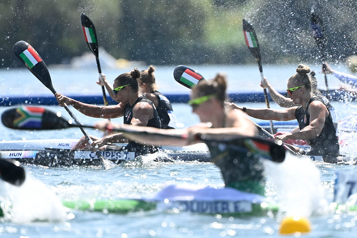
M 309 106 L 313 101 L 320 101 L 325 106 L 325 102 L 317 97 L 311 97 L 307 103 L 306 110 L 304 111 L 302 106 L 296 108 L 295 117 L 299 123 L 300 130 L 310 125 L 310 115 L 308 113 Z M 328 117 L 325 119 L 325 125 L 322 128 L 320 135 L 311 140 L 307 140 L 309 146 L 311 146 L 311 151 L 308 152 L 309 155 L 327 155 L 327 154 L 340 154 L 340 145 L 338 144 L 338 139 L 336 136 L 336 128 L 333 124 L 331 112 L 328 109 Z

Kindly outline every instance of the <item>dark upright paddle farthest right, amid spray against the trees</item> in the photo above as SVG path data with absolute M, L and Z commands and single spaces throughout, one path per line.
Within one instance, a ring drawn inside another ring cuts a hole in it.
M 311 30 L 312 30 L 312 35 L 315 38 L 316 44 L 318 46 L 318 49 L 319 51 L 321 51 L 322 66 L 324 67 L 323 74 L 325 76 L 326 91 L 328 93 L 327 76 L 325 73 L 325 54 L 324 54 L 325 36 L 323 35 L 323 24 L 320 17 L 315 13 L 313 9 L 311 10 Z M 330 96 L 329 93 L 328 96 Z

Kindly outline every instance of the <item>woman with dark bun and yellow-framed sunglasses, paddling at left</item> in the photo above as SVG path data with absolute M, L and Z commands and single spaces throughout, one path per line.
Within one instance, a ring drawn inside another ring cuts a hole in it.
M 114 89 L 112 90 L 115 101 L 119 102 L 116 106 L 100 107 L 90 105 L 76 101 L 60 93 L 56 93 L 56 99 L 60 106 L 64 103 L 72 105 L 86 116 L 96 118 L 117 118 L 124 116 L 124 124 L 127 125 L 161 128 L 160 118 L 157 115 L 154 104 L 139 92 L 137 82 L 139 77 L 140 71 L 136 68 L 131 72 L 126 72 L 116 77 L 113 84 Z M 82 137 L 72 149 L 105 150 L 111 143 L 126 142 L 123 141 L 120 133 L 103 138 L 95 136 L 91 136 L 91 138 L 94 140 L 91 145 L 88 145 L 86 138 Z M 116 146 L 114 147 L 116 150 L 120 149 Z M 153 146 L 143 146 L 132 141 L 129 141 L 127 147 L 122 149 L 137 153 L 152 153 L 156 151 L 156 148 Z

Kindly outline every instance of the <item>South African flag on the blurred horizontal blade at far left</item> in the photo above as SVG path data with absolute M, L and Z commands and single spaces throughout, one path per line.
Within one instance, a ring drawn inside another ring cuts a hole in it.
M 18 107 L 16 112 L 19 114 L 13 124 L 17 128 L 21 127 L 42 127 L 42 115 L 45 111 L 45 108 L 41 107 Z

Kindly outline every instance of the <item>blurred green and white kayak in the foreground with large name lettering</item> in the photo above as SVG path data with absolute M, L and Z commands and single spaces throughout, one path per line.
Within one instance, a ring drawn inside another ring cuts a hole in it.
M 242 192 L 234 188 L 211 188 L 185 184 L 170 184 L 149 198 L 92 199 L 62 201 L 70 209 L 81 211 L 129 213 L 138 211 L 163 211 L 167 213 L 190 212 L 197 214 L 222 214 L 227 216 L 264 216 L 276 214 L 277 204 L 265 196 Z M 0 202 L 0 215 L 1 215 Z M 4 214 L 2 214 L 3 216 Z

